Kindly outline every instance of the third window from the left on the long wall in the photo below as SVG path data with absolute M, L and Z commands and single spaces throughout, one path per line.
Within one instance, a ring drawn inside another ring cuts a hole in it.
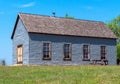
M 89 45 L 83 45 L 83 60 L 90 60 L 90 48 Z

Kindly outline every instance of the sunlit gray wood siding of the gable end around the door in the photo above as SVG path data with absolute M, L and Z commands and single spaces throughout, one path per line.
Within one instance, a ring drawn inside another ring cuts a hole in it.
M 29 64 L 29 36 L 19 19 L 13 37 L 13 64 L 17 63 L 17 46 L 23 45 L 23 64 Z

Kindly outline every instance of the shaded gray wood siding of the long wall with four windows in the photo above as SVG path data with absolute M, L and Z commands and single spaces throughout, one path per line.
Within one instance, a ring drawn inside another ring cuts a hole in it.
M 100 39 L 73 36 L 58 36 L 45 34 L 29 34 L 30 55 L 29 64 L 60 64 L 60 65 L 86 65 L 90 61 L 83 61 L 83 44 L 90 45 L 90 58 L 100 59 L 100 46 L 107 46 L 107 59 L 110 65 L 116 64 L 116 40 Z M 47 41 L 52 44 L 52 59 L 42 60 L 42 42 Z M 64 43 L 72 44 L 72 61 L 63 60 Z

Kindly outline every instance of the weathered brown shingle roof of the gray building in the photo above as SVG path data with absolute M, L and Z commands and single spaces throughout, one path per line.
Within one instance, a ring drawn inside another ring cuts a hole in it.
M 103 22 L 22 13 L 18 17 L 22 20 L 27 31 L 32 33 L 116 38 Z

